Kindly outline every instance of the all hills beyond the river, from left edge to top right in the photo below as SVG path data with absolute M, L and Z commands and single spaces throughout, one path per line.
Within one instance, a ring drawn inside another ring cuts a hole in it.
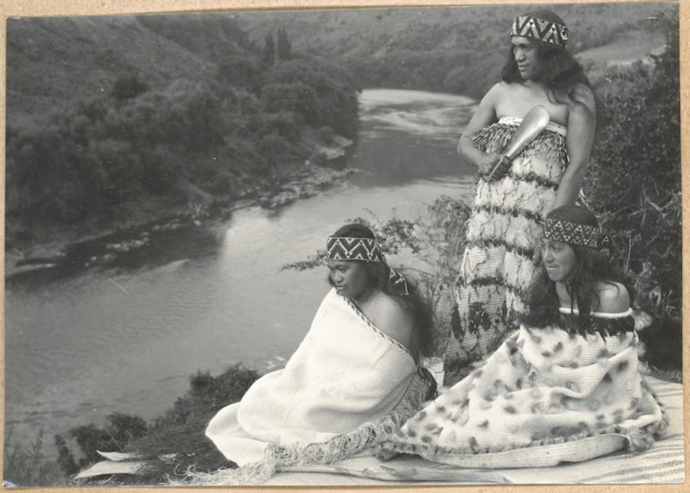
M 657 14 L 674 9 L 554 8 L 595 84 L 611 61 L 658 51 Z M 479 98 L 498 80 L 511 19 L 528 10 L 8 20 L 7 237 L 108 230 L 280 182 L 334 135 L 356 137 L 358 88 Z

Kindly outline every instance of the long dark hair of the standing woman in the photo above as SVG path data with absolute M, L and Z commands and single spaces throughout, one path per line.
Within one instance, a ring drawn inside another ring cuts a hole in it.
M 528 13 L 527 15 L 565 25 L 565 22 L 560 17 L 547 10 Z M 537 81 L 541 82 L 544 88 L 547 89 L 549 101 L 566 105 L 569 105 L 571 101 L 582 104 L 582 96 L 575 90 L 578 84 L 589 88 L 592 94 L 594 94 L 590 80 L 585 75 L 582 65 L 575 60 L 574 56 L 565 47 L 539 41 L 538 39 L 534 39 L 534 42 L 537 45 L 537 57 L 541 63 L 541 72 Z M 501 79 L 508 83 L 524 81 L 518 70 L 518 64 L 515 62 L 513 47 L 510 48 L 504 67 L 501 70 Z

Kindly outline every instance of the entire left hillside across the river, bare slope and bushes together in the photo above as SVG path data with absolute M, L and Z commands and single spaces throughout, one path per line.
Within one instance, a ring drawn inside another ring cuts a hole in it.
M 6 238 L 203 214 L 357 135 L 349 74 L 232 14 L 7 22 Z M 297 166 L 297 167 L 296 167 Z

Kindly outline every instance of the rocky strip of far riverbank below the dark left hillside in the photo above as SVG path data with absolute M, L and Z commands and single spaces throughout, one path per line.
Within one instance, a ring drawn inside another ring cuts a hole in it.
M 188 202 L 185 206 L 153 209 L 107 231 L 91 234 L 65 232 L 50 242 L 16 246 L 5 250 L 6 279 L 37 269 L 50 269 L 57 276 L 82 268 L 103 268 L 136 251 L 150 249 L 152 242 L 170 232 L 200 228 L 229 219 L 233 212 L 254 206 L 270 210 L 284 208 L 297 200 L 347 181 L 356 169 L 346 168 L 354 142 L 335 136 L 329 145 L 313 142 L 312 157 L 301 164 L 280 166 L 277 173 L 234 188 L 232 198 L 201 193 L 192 183 L 182 183 Z

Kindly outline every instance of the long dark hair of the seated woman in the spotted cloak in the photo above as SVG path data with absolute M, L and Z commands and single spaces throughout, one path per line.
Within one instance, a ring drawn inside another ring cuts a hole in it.
M 549 212 L 547 217 L 599 227 L 597 217 L 588 208 L 580 206 L 561 206 Z M 574 316 L 574 326 L 577 332 L 584 335 L 590 325 L 591 312 L 598 308 L 598 283 L 624 285 L 631 300 L 634 298 L 634 288 L 628 277 L 613 266 L 604 252 L 568 244 L 575 252 L 575 266 L 566 283 L 566 290 L 571 299 L 570 308 L 574 308 L 576 304 L 579 311 L 579 314 Z M 548 278 L 543 265 L 539 266 L 535 273 L 526 304 L 527 312 L 520 317 L 520 322 L 531 327 L 551 325 L 560 315 L 561 304 L 556 293 L 556 283 Z

